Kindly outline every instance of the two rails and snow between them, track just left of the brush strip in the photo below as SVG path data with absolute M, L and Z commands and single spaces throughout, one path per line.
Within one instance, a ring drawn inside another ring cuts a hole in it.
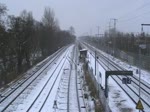
M 81 112 L 77 81 L 77 48 L 74 47 L 68 81 L 67 112 Z

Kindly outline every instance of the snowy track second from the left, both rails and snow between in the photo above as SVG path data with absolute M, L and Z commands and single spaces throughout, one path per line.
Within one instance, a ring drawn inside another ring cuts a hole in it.
M 67 52 L 68 53 L 68 52 Z M 58 77 L 60 76 L 60 72 L 62 71 L 62 68 L 64 66 L 64 63 L 66 62 L 67 53 L 65 56 L 60 60 L 60 62 L 55 67 L 54 71 L 49 76 L 48 80 L 45 82 L 44 86 L 40 90 L 40 92 L 37 94 L 37 96 L 34 98 L 33 102 L 30 104 L 30 106 L 27 109 L 27 112 L 37 111 L 41 112 L 47 102 L 47 99 L 50 97 L 51 91 L 58 80 Z

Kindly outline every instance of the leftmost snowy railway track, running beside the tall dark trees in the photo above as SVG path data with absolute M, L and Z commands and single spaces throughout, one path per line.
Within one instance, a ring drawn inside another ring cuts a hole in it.
M 25 94 L 25 92 L 30 88 L 33 82 L 37 83 L 44 77 L 44 71 L 46 71 L 52 66 L 52 64 L 55 63 L 62 52 L 65 51 L 65 49 L 66 47 L 51 55 L 49 58 L 43 61 L 31 74 L 27 74 L 23 78 L 20 78 L 20 80 L 18 80 L 18 82 L 12 86 L 13 88 L 11 87 L 11 89 L 8 89 L 4 93 L 1 93 L 3 97 L 0 100 L 0 111 L 9 111 L 11 106 L 13 106 L 13 103 L 19 97 L 21 97 L 21 95 Z

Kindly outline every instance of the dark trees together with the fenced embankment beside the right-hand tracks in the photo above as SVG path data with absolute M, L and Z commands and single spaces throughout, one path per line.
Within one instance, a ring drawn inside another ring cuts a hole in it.
M 102 36 L 82 36 L 80 39 L 135 66 L 139 66 L 140 51 L 141 68 L 150 70 L 149 34 L 123 33 L 110 29 L 109 32 L 105 32 Z M 146 45 L 146 48 L 144 46 L 141 48 L 141 45 Z

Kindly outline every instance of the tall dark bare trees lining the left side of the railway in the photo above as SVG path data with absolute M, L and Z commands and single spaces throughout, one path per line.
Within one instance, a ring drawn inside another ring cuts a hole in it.
M 8 15 L 0 4 L 0 85 L 6 84 L 62 46 L 75 41 L 74 28 L 61 30 L 54 11 L 47 7 L 41 21 L 32 12 Z

